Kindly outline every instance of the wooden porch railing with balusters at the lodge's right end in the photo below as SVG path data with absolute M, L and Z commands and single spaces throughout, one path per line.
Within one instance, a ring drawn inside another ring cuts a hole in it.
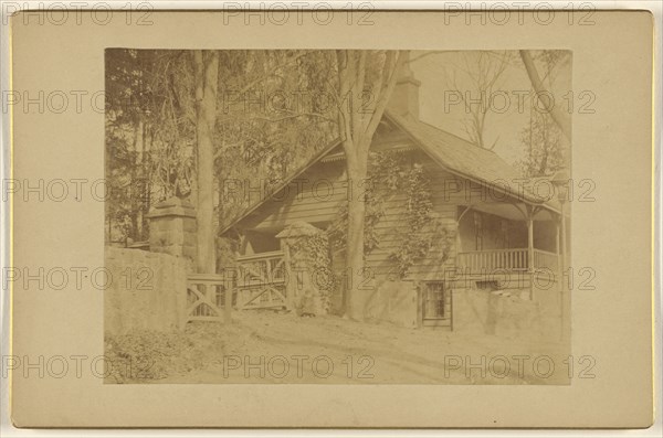
M 528 270 L 529 257 L 527 248 L 504 248 L 471 250 L 459 253 L 459 266 L 471 273 L 504 269 L 508 271 Z M 543 249 L 534 249 L 534 267 L 557 269 L 557 255 Z

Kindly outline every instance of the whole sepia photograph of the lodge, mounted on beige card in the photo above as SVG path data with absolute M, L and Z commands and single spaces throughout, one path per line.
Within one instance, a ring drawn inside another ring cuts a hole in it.
M 571 61 L 107 49 L 104 382 L 568 385 Z

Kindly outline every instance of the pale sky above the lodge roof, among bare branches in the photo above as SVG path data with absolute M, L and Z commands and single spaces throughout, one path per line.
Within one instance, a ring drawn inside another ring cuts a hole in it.
M 470 92 L 471 97 L 477 98 L 478 92 L 467 79 L 469 76 L 465 73 L 467 66 L 476 65 L 477 52 L 436 52 L 421 57 L 423 53 L 425 52 L 412 52 L 410 55 L 412 60 L 410 67 L 414 77 L 421 82 L 420 119 L 467 139 L 469 136 L 463 127 L 463 118 L 467 114 L 462 104 L 452 102 L 454 96 L 450 94 L 449 78 L 455 75 L 459 88 L 463 88 L 461 93 Z M 504 53 L 496 52 L 496 54 Z M 508 55 L 509 62 L 494 87 L 494 100 L 492 109 L 486 116 L 484 135 L 486 145 L 493 145 L 496 141 L 493 150 L 506 162 L 515 164 L 524 158 L 525 146 L 520 140 L 522 130 L 529 124 L 534 92 L 518 53 L 511 51 Z M 497 56 L 494 58 L 498 64 L 499 58 Z M 545 77 L 541 65 L 537 66 L 540 76 Z M 475 71 L 470 70 L 469 72 L 474 74 Z M 554 78 L 554 82 L 551 84 L 546 82 L 546 84 L 551 86 L 556 105 L 566 106 L 568 100 L 565 100 L 562 96 L 571 89 L 570 63 L 559 71 L 554 71 L 550 78 Z

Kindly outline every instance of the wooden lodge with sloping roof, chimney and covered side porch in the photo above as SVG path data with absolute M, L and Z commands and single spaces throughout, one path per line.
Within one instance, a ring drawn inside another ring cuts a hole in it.
M 559 293 L 564 227 L 550 182 L 533 184 L 493 151 L 420 121 L 419 85 L 409 68 L 401 72 L 371 151 L 399 154 L 401 162 L 422 168 L 433 215 L 448 243 L 441 248 L 433 244 L 406 275 L 394 275 L 393 250 L 408 238 L 408 194 L 392 193 L 376 224 L 379 244 L 366 256 L 371 273 L 367 318 L 406 327 L 451 327 L 457 318 L 452 301 L 463 290 L 511 290 L 526 300 Z M 242 237 L 241 269 L 264 280 L 255 287 L 240 281 L 238 290 L 245 298 L 238 298 L 238 307 L 292 302 L 290 281 L 280 269 L 288 263 L 280 234 L 302 223 L 328 229 L 347 197 L 345 156 L 336 142 L 225 226 L 223 234 Z M 329 259 L 332 270 L 343 275 L 343 247 L 330 248 Z M 341 310 L 343 290 L 334 289 L 330 312 Z

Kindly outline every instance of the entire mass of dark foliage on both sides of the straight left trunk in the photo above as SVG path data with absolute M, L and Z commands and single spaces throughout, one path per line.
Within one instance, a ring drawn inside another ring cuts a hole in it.
M 335 72 L 325 51 L 219 54 L 215 209 L 225 224 L 255 199 L 223 202 L 224 181 L 282 180 L 337 135 L 334 108 L 313 97 Z M 196 75 L 190 51 L 110 49 L 105 56 L 107 241 L 145 239 L 154 203 L 197 201 Z

